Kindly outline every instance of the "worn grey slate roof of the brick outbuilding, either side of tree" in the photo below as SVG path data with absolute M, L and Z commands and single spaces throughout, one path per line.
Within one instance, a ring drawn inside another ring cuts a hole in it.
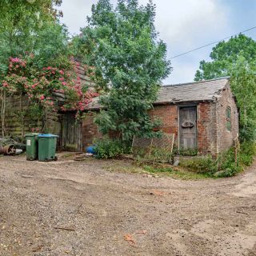
M 216 78 L 200 82 L 188 82 L 177 85 L 162 86 L 154 105 L 179 102 L 213 102 L 221 96 L 222 90 L 230 78 Z M 87 106 L 88 110 L 97 110 L 102 106 L 94 98 Z

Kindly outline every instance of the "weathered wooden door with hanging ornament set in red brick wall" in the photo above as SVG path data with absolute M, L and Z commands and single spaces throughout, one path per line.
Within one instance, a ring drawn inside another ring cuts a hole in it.
M 194 149 L 197 147 L 197 107 L 180 107 L 179 109 L 179 147 Z

